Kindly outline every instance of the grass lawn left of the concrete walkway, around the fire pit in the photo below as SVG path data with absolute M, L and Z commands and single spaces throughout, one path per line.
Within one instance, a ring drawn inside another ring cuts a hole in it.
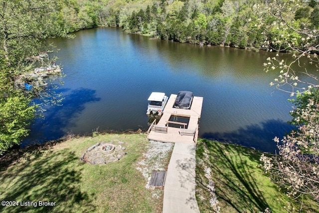
M 125 142 L 127 155 L 120 161 L 107 165 L 80 161 L 90 146 L 112 140 Z M 162 193 L 152 196 L 147 180 L 136 169 L 148 145 L 145 135 L 105 134 L 15 150 L 0 162 L 0 201 L 56 204 L 35 208 L 19 203 L 0 206 L 0 212 L 161 212 Z

